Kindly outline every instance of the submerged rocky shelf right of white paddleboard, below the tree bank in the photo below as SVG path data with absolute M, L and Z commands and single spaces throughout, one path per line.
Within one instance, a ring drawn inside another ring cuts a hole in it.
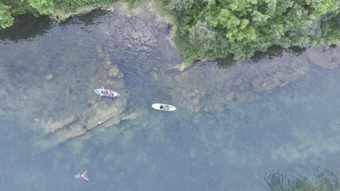
M 281 58 L 236 63 L 225 69 L 216 66 L 199 62 L 171 75 L 158 75 L 162 71 L 156 70 L 151 76 L 168 86 L 171 97 L 176 98 L 174 106 L 194 113 L 212 112 L 220 118 L 225 109 L 256 99 L 257 92 L 285 86 L 303 75 L 310 64 L 287 52 Z

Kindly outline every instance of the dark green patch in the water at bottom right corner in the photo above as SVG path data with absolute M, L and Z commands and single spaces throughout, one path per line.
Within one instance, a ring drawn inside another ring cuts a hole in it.
M 340 191 L 340 176 L 337 173 L 316 169 L 313 174 L 288 177 L 275 172 L 265 179 L 267 191 Z

